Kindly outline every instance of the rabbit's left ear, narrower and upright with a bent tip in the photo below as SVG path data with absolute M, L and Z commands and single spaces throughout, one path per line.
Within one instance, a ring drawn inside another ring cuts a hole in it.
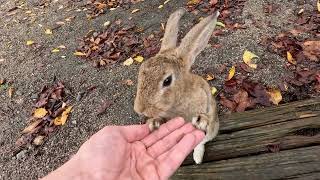
M 179 31 L 179 20 L 184 13 L 185 9 L 180 8 L 170 15 L 166 25 L 164 36 L 162 38 L 160 53 L 168 49 L 176 48 Z

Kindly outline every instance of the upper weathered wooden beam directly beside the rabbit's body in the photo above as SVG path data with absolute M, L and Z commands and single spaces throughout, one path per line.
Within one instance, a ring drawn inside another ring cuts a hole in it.
M 204 162 L 320 144 L 320 99 L 220 117 L 221 134 Z M 189 156 L 184 165 L 193 164 Z

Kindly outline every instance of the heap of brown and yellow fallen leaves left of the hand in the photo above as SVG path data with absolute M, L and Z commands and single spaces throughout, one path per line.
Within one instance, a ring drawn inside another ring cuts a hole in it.
M 18 149 L 29 144 L 41 145 L 46 137 L 58 126 L 64 125 L 72 109 L 71 96 L 62 82 L 44 86 L 35 101 L 29 125 L 22 130 L 22 136 L 16 141 Z

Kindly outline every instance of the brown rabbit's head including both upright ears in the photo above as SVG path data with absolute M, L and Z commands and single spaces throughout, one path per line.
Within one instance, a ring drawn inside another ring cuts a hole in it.
M 170 15 L 159 53 L 140 67 L 134 110 L 147 117 L 166 117 L 176 105 L 182 105 L 190 68 L 196 56 L 207 46 L 219 12 L 195 25 L 177 45 L 179 20 L 185 13 L 179 9 Z

